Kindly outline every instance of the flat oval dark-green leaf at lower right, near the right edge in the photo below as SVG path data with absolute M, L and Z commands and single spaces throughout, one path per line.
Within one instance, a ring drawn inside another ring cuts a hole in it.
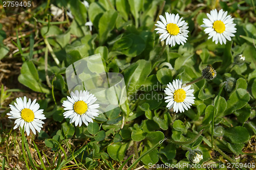
M 246 128 L 236 126 L 224 131 L 224 136 L 228 137 L 232 143 L 243 143 L 249 140 L 249 132 Z

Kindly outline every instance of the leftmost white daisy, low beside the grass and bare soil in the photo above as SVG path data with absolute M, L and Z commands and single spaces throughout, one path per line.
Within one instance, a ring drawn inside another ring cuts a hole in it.
M 10 106 L 10 113 L 7 113 L 9 116 L 8 118 L 16 118 L 13 129 L 20 127 L 25 128 L 25 132 L 27 132 L 27 135 L 30 134 L 30 129 L 34 134 L 37 132 L 40 132 L 42 128 L 42 119 L 46 119 L 45 115 L 43 114 L 43 109 L 39 109 L 40 105 L 36 103 L 36 100 L 34 100 L 31 103 L 31 99 L 27 102 L 26 96 L 24 96 L 24 99 L 17 98 L 16 103 L 14 102 L 14 105 Z

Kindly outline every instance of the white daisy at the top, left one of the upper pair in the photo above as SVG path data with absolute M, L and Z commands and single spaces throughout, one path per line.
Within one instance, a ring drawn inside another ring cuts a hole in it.
M 174 46 L 175 43 L 184 45 L 184 42 L 186 42 L 188 37 L 187 29 L 187 22 L 182 20 L 182 17 L 180 18 L 179 14 L 169 14 L 168 12 L 165 12 L 166 19 L 159 15 L 159 18 L 161 21 L 157 21 L 158 28 L 157 34 L 161 33 L 159 39 L 161 41 L 166 39 L 166 45 L 169 44 L 170 46 Z

